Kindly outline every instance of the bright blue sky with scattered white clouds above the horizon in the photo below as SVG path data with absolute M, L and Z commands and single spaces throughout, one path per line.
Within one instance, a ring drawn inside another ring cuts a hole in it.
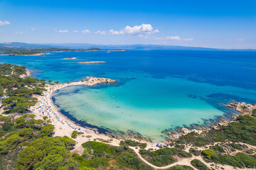
M 256 49 L 256 1 L 0 0 L 0 42 Z

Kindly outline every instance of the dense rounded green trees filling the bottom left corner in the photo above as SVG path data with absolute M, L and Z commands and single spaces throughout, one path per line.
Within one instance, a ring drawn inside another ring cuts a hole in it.
M 26 114 L 16 119 L 0 115 L 0 169 L 78 166 L 68 151 L 73 148 L 75 141 L 68 137 L 44 137 L 54 127 L 42 125 L 43 120 L 35 120 Z

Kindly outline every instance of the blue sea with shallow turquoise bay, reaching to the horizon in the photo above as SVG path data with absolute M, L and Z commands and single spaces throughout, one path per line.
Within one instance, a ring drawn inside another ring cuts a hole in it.
M 77 57 L 77 60 L 66 60 Z M 105 61 L 79 64 L 82 61 Z M 162 131 L 205 125 L 233 111 L 230 101 L 256 103 L 256 52 L 127 50 L 124 52 L 52 52 L 50 55 L 0 55 L 33 77 L 77 81 L 87 76 L 118 84 L 70 86 L 56 92 L 55 103 L 74 118 L 99 127 L 132 130 L 161 140 Z

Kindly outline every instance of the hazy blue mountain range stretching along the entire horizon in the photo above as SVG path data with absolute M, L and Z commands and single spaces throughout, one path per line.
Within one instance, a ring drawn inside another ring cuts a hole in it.
M 29 44 L 24 42 L 5 42 L 0 43 L 0 47 L 21 47 L 21 48 L 72 48 L 72 49 L 87 49 L 92 47 L 98 47 L 105 50 L 124 49 L 124 50 L 226 50 L 218 48 L 206 48 L 206 47 L 186 47 L 176 45 L 97 45 L 89 43 L 46 43 L 46 44 Z M 252 49 L 245 49 L 255 51 Z M 237 50 L 241 51 L 241 50 Z M 243 50 L 242 50 L 243 51 Z

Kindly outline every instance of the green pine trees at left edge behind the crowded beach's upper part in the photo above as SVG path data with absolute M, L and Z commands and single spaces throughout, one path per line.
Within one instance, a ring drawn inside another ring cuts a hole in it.
M 25 67 L 0 64 L 0 68 L 7 70 L 1 70 L 2 74 L 9 75 L 0 75 L 0 95 L 4 97 L 1 103 L 5 113 L 26 113 L 37 101 L 33 95 L 41 95 L 45 90 L 42 81 L 30 77 L 26 79 L 18 77 L 26 72 Z

